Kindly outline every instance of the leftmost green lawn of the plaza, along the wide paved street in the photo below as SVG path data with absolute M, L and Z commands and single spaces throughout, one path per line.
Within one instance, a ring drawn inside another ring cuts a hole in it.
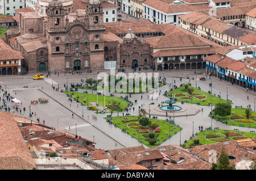
M 67 94 L 67 92 L 65 91 L 65 94 Z M 72 95 L 72 98 L 76 98 L 77 97 L 77 92 L 71 92 L 68 91 L 69 95 Z M 82 95 L 84 95 L 84 106 L 92 106 L 90 103 L 88 103 L 88 99 L 89 102 L 97 102 L 98 104 L 100 104 L 103 107 L 106 107 L 107 104 L 112 104 L 112 99 L 120 102 L 119 107 L 125 111 L 125 108 L 127 107 L 127 102 L 119 97 L 115 97 L 115 96 L 105 96 L 104 95 L 97 95 L 97 94 L 85 94 L 85 93 L 81 93 L 78 92 L 78 96 L 79 96 L 79 102 L 82 102 Z M 105 104 L 104 104 L 104 99 L 105 99 Z M 85 102 L 86 101 L 86 102 Z M 109 111 L 111 111 L 108 108 Z M 115 112 L 115 111 L 113 111 Z

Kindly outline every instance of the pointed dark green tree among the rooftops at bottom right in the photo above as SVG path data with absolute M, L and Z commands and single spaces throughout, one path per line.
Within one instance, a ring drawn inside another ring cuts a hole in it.
M 220 157 L 218 157 L 217 163 L 212 163 L 212 170 L 234 170 L 234 165 L 229 165 L 229 156 L 225 149 L 222 148 L 220 152 Z

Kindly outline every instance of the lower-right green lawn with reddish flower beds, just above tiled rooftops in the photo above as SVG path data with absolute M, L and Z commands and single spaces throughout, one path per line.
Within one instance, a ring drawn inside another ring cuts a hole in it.
M 225 132 L 229 132 L 229 136 L 226 137 L 224 134 Z M 226 142 L 226 141 L 234 141 L 234 140 L 240 140 L 243 138 L 256 138 L 256 133 L 250 133 L 250 132 L 238 132 L 238 131 L 232 131 L 232 130 L 224 130 L 224 129 L 216 129 L 216 130 L 210 130 L 210 131 L 201 131 L 197 133 L 195 137 L 198 137 L 200 140 L 200 145 L 207 145 L 207 144 L 215 144 L 217 142 Z M 185 141 L 184 147 L 191 146 L 193 143 L 193 138 L 191 138 L 188 141 Z

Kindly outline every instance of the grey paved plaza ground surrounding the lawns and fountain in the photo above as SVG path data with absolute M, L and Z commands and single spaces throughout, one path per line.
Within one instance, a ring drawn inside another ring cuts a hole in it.
M 130 72 L 133 72 L 132 70 Z M 145 71 L 150 72 L 150 70 Z M 129 70 L 126 70 L 126 73 L 129 73 Z M 154 73 L 154 72 L 153 72 Z M 193 87 L 197 85 L 200 86 L 201 90 L 208 92 L 210 91 L 209 83 L 212 83 L 212 92 L 213 94 L 221 94 L 221 98 L 226 100 L 228 96 L 229 100 L 232 100 L 232 106 L 242 106 L 246 107 L 251 105 L 252 110 L 254 111 L 255 107 L 255 98 L 256 94 L 253 91 L 246 91 L 242 87 L 231 85 L 231 83 L 226 81 L 220 81 L 216 77 L 209 77 L 206 81 L 200 81 L 199 78 L 204 76 L 205 71 L 196 71 L 196 74 L 193 71 L 158 71 L 159 76 L 166 77 L 167 83 L 172 83 L 173 79 L 175 80 L 175 85 L 179 87 L 181 83 L 189 82 Z M 10 92 L 11 96 L 22 101 L 22 111 L 15 111 L 17 115 L 22 115 L 29 118 L 30 111 L 33 112 L 31 117 L 32 120 L 36 121 L 37 118 L 40 118 L 40 123 L 45 121 L 45 124 L 49 127 L 52 127 L 56 130 L 63 130 L 78 136 L 84 137 L 88 140 L 96 142 L 96 148 L 103 148 L 105 150 L 114 149 L 114 148 L 124 148 L 130 146 L 141 145 L 138 140 L 132 138 L 126 133 L 121 132 L 119 128 L 114 127 L 106 122 L 104 117 L 109 113 L 99 113 L 96 114 L 93 111 L 88 111 L 86 106 L 82 107 L 76 102 L 70 102 L 68 96 L 64 92 L 60 92 L 63 89 L 64 84 L 70 85 L 71 83 L 80 83 L 81 79 L 86 78 L 97 78 L 97 72 L 90 74 L 69 74 L 69 73 L 60 73 L 59 76 L 54 75 L 53 77 L 44 78 L 43 80 L 33 80 L 32 77 L 34 73 L 29 73 L 26 75 L 7 75 L 0 77 L 0 85 L 3 90 Z M 189 79 L 187 79 L 187 77 Z M 180 81 L 180 78 L 183 78 Z M 193 80 L 194 78 L 194 80 Z M 196 79 L 197 78 L 197 79 Z M 190 81 L 189 81 L 190 80 Z M 24 86 L 28 86 L 24 88 Z M 52 89 L 53 86 L 60 86 L 59 91 Z M 241 131 L 256 131 L 254 128 L 242 128 L 242 127 L 232 127 L 220 123 L 219 121 L 210 119 L 208 117 L 211 110 L 210 106 L 200 106 L 195 104 L 184 103 L 175 103 L 175 105 L 181 107 L 181 111 L 174 113 L 168 112 L 166 117 L 166 112 L 159 110 L 157 105 L 161 102 L 168 100 L 166 96 L 163 95 L 163 92 L 169 89 L 168 85 L 162 86 L 159 88 L 162 94 L 159 95 L 158 99 L 148 99 L 148 94 L 132 94 L 129 100 L 134 103 L 135 110 L 131 109 L 129 113 L 131 115 L 138 115 L 139 106 L 143 106 L 144 110 L 148 114 L 150 110 L 150 115 L 157 115 L 158 119 L 167 119 L 169 116 L 175 120 L 175 123 L 180 125 L 180 133 L 175 134 L 167 141 L 163 142 L 162 145 L 183 144 L 185 140 L 189 140 L 193 133 L 199 132 L 199 126 L 204 128 L 208 127 L 218 127 L 220 129 L 240 129 Z M 82 92 L 83 90 L 79 90 Z M 93 94 L 96 94 L 97 91 L 94 91 Z M 220 93 L 221 92 L 221 93 Z M 3 93 L 1 91 L 1 93 Z M 16 93 L 16 94 L 15 94 Z M 88 93 L 91 93 L 88 91 Z M 228 94 L 227 94 L 228 93 Z M 75 94 L 75 93 L 74 93 Z M 106 92 L 106 95 L 110 95 L 109 92 Z M 123 94 L 114 93 L 115 96 L 123 96 Z M 142 95 L 142 99 L 141 99 Z M 2 98 L 2 94 L 0 94 Z M 249 96 L 249 99 L 247 99 Z M 31 104 L 31 100 L 38 100 L 38 98 L 48 99 L 48 103 L 38 103 Z M 137 103 L 135 103 L 137 100 Z M 154 102 L 154 104 L 151 104 Z M 13 111 L 13 103 L 7 102 Z M 0 102 L 2 105 L 2 101 Z M 25 110 L 24 110 L 25 108 Z M 203 108 L 203 111 L 202 111 Z M 3 111 L 3 110 L 1 110 Z M 10 112 L 11 112 L 10 111 Z M 74 115 L 72 117 L 72 114 Z M 93 117 L 94 116 L 94 117 Z M 113 116 L 117 116 L 117 113 L 113 113 Z M 97 117 L 97 119 L 96 119 Z M 118 146 L 115 146 L 115 142 L 118 143 Z M 146 146 L 145 146 L 146 147 Z

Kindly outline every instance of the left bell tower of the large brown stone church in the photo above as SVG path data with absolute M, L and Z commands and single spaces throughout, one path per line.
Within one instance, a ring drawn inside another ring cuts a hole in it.
M 65 15 L 67 10 L 63 9 L 62 3 L 58 0 L 52 0 L 48 6 L 48 31 L 63 31 L 65 30 Z

